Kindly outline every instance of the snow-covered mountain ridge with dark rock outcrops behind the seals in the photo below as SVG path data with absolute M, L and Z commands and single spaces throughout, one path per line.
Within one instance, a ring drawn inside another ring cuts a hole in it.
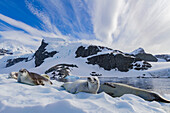
M 159 62 L 156 63 L 157 60 L 154 61 L 156 57 L 148 53 L 128 54 L 108 47 L 72 42 L 64 38 L 44 38 L 39 48 L 34 51 L 0 59 L 2 64 L 0 72 L 7 73 L 9 70 L 18 71 L 21 68 L 27 68 L 38 73 L 45 73 L 55 65 L 68 64 L 78 67 L 71 70 L 71 74 L 76 76 L 90 76 L 93 72 L 105 77 L 164 76 L 157 75 L 155 72 L 151 74 Z M 166 76 L 170 74 L 167 73 Z

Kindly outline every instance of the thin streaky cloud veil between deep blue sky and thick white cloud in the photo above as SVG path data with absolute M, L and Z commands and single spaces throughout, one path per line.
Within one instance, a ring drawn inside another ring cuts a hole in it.
M 26 0 L 28 9 L 44 24 L 47 31 L 81 38 L 85 34 L 87 39 L 93 34 L 91 17 L 84 0 Z M 37 8 L 37 6 L 41 6 Z

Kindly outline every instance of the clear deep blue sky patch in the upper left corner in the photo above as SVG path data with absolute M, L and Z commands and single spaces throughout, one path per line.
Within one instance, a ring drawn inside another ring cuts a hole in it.
M 0 0 L 0 7 L 1 14 L 41 29 L 41 21 L 29 11 L 24 0 Z M 3 21 L 0 22 L 10 26 Z

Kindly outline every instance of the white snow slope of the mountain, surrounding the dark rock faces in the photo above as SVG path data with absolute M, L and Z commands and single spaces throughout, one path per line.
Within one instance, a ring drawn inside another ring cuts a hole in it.
M 87 64 L 87 58 L 75 58 L 75 52 L 79 46 L 88 47 L 89 44 L 85 44 L 84 42 L 71 42 L 64 38 L 45 38 L 45 42 L 48 43 L 48 46 L 45 48 L 46 51 L 57 51 L 53 57 L 49 57 L 44 60 L 39 67 L 35 68 L 35 59 L 32 59 L 34 53 L 29 53 L 29 49 L 27 52 L 23 49 L 20 51 L 20 54 L 16 54 L 12 56 L 5 56 L 4 58 L 0 59 L 0 73 L 8 74 L 11 71 L 18 71 L 21 68 L 26 68 L 29 71 L 34 71 L 39 74 L 45 73 L 46 70 L 49 68 L 57 65 L 57 64 L 74 64 L 77 65 L 78 68 L 74 68 L 71 70 L 71 74 L 75 76 L 90 76 L 91 72 L 97 72 L 102 74 L 104 77 L 139 77 L 145 75 L 145 77 L 170 77 L 170 63 L 169 62 L 150 62 L 152 68 L 145 71 L 137 71 L 137 70 L 130 70 L 128 72 L 120 72 L 117 70 L 104 70 L 100 68 L 98 65 L 91 65 Z M 16 46 L 17 47 L 17 46 Z M 15 48 L 15 47 L 14 47 Z M 35 51 L 35 50 L 34 50 Z M 98 52 L 96 55 L 111 53 L 113 50 L 103 49 L 101 52 Z M 27 53 L 27 54 L 26 54 Z M 136 53 L 136 52 L 135 52 Z M 116 53 L 114 53 L 116 54 Z M 95 56 L 91 55 L 90 57 Z M 19 58 L 19 57 L 28 57 L 32 59 L 29 62 L 20 62 L 11 67 L 5 68 L 6 62 L 8 59 Z

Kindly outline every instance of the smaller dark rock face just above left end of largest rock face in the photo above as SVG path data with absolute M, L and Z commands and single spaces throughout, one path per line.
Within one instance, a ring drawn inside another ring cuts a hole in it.
M 110 48 L 106 48 L 106 47 L 101 47 L 101 46 L 94 46 L 94 45 L 90 45 L 88 46 L 88 48 L 86 49 L 86 47 L 80 46 L 76 53 L 76 58 L 78 57 L 88 57 L 91 55 L 95 55 L 98 52 L 101 52 L 103 49 L 108 49 L 108 50 L 112 50 Z

